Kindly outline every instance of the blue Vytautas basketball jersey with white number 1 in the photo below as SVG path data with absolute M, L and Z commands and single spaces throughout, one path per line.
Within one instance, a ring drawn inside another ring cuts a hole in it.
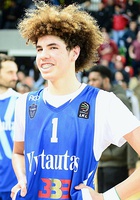
M 94 188 L 97 168 L 93 152 L 95 104 L 99 89 L 86 86 L 72 101 L 55 108 L 43 90 L 31 92 L 26 103 L 26 200 L 81 200 L 74 187 Z M 20 195 L 19 195 L 20 196 Z

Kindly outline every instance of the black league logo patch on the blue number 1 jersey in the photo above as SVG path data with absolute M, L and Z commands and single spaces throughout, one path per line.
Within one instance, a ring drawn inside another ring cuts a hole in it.
M 90 105 L 87 102 L 82 102 L 79 106 L 78 117 L 89 118 Z

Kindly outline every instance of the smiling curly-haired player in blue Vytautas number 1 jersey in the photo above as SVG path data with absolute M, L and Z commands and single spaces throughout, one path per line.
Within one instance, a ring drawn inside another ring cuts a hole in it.
M 48 87 L 17 101 L 13 167 L 18 183 L 11 196 L 118 200 L 140 191 L 140 169 L 104 194 L 94 191 L 98 160 L 108 145 L 128 141 L 140 154 L 136 117 L 113 93 L 76 78 L 98 60 L 103 41 L 96 21 L 78 6 L 61 9 L 38 1 L 19 31 L 35 45 Z

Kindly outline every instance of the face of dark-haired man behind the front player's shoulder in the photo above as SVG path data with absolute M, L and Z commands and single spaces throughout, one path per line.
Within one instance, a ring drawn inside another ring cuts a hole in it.
M 104 80 L 98 72 L 90 72 L 88 76 L 88 83 L 93 87 L 103 89 Z

